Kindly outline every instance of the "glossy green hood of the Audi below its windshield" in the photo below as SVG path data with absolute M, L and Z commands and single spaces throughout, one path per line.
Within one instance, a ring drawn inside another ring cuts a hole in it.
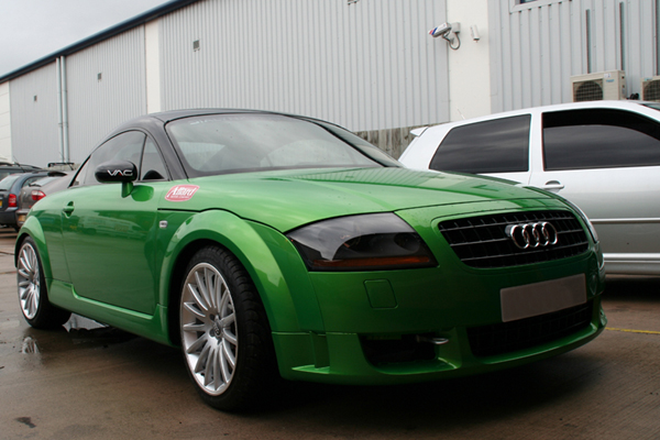
M 164 208 L 224 209 L 289 231 L 318 220 L 370 212 L 494 200 L 546 199 L 504 180 L 405 168 L 287 170 L 200 177 L 184 204 Z

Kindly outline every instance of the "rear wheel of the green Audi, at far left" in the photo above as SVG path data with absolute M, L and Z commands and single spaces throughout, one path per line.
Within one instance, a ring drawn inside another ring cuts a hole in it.
M 72 316 L 70 311 L 55 307 L 48 301 L 38 250 L 30 237 L 21 243 L 19 250 L 16 282 L 21 311 L 30 326 L 35 329 L 54 329 Z

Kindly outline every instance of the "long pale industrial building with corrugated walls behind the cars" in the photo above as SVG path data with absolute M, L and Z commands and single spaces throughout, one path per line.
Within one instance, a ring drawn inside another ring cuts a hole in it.
M 415 127 L 658 99 L 659 13 L 660 0 L 170 1 L 0 77 L 0 156 L 80 163 L 132 117 L 221 107 L 324 119 L 398 157 Z

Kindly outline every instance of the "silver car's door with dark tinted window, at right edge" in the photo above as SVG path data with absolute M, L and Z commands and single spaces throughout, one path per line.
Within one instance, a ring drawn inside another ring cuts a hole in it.
M 543 169 L 530 184 L 585 211 L 608 272 L 660 263 L 660 123 L 619 109 L 546 112 L 542 123 Z

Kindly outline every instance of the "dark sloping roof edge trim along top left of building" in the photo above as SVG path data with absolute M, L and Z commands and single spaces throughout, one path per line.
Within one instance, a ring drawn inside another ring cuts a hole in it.
M 86 48 L 86 47 L 92 46 L 103 40 L 108 40 L 114 35 L 122 33 L 122 32 L 129 31 L 133 28 L 138 28 L 148 21 L 152 21 L 160 16 L 166 15 L 169 12 L 176 11 L 177 9 L 182 9 L 184 7 L 187 7 L 188 4 L 195 3 L 197 1 L 199 1 L 199 0 L 172 0 L 165 4 L 150 9 L 148 11 L 143 12 L 140 15 L 136 15 L 132 19 L 122 21 L 121 23 L 119 23 L 112 28 L 108 28 L 105 31 L 101 31 L 91 36 L 88 36 L 85 40 L 80 40 L 77 43 L 74 43 L 74 44 L 66 46 L 57 52 L 46 55 L 43 58 L 40 58 L 31 64 L 28 64 L 26 66 L 23 66 L 13 72 L 10 72 L 7 75 L 0 76 L 0 84 L 6 82 L 10 79 L 14 79 L 14 78 L 16 78 L 21 75 L 24 75 L 29 72 L 36 70 L 37 68 L 48 65 L 51 63 L 54 63 L 61 56 L 72 55 L 76 52 L 79 52 L 79 51 Z

